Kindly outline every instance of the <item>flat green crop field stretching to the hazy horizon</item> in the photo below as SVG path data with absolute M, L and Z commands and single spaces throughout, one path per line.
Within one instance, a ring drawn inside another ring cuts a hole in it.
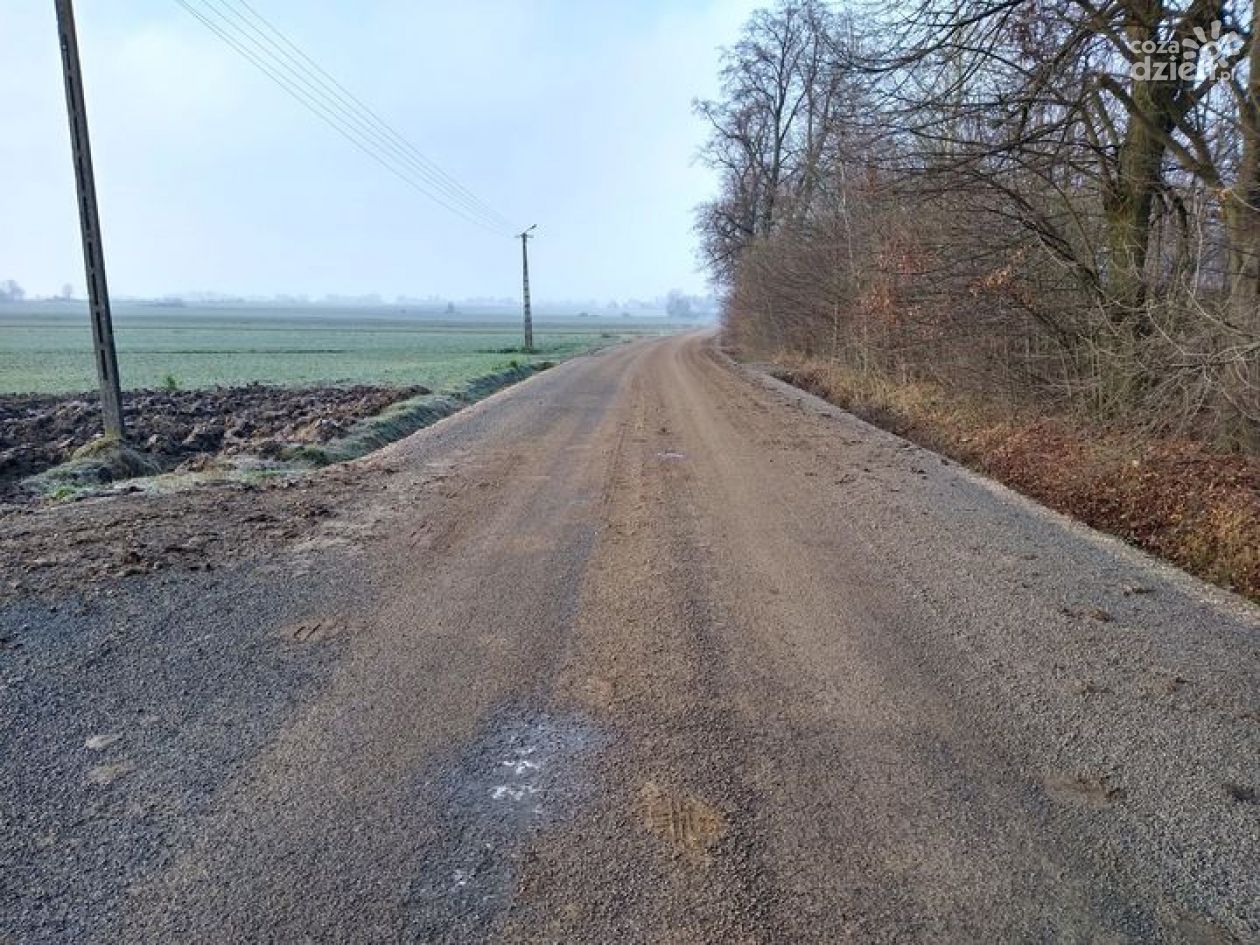
M 425 384 L 441 391 L 529 360 L 519 318 L 505 311 L 438 315 L 401 307 L 331 309 L 116 305 L 122 386 Z M 538 318 L 536 360 L 561 360 L 679 325 L 663 318 Z M 96 386 L 82 304 L 0 305 L 0 393 L 63 393 Z

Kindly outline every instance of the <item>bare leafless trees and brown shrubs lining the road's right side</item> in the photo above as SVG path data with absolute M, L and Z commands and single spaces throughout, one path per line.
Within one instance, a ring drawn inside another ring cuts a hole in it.
M 1254 4 L 780 0 L 697 103 L 731 340 L 1260 447 Z

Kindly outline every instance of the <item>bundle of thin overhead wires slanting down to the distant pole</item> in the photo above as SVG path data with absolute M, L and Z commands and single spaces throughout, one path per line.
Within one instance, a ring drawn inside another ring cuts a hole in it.
M 185 11 L 367 156 L 452 214 L 510 234 L 509 222 L 350 93 L 246 0 L 175 0 Z

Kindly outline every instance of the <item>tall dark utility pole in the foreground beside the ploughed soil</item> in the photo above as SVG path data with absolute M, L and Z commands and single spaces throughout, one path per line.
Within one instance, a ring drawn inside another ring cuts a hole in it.
M 101 382 L 101 413 L 105 417 L 106 435 L 121 438 L 123 428 L 118 355 L 113 349 L 110 290 L 105 282 L 105 251 L 101 247 L 101 218 L 96 207 L 96 180 L 92 176 L 92 145 L 87 135 L 87 108 L 83 105 L 83 74 L 79 71 L 74 8 L 71 0 L 54 0 L 54 3 L 57 29 L 62 40 L 66 108 L 69 112 L 71 145 L 74 151 L 79 227 L 83 231 L 83 268 L 87 272 L 87 299 L 92 311 L 92 348 L 96 352 L 96 374 Z

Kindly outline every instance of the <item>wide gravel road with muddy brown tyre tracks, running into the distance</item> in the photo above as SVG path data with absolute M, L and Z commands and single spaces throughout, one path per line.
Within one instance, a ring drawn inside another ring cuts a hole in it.
M 0 942 L 1260 941 L 1260 611 L 711 335 L 289 494 L 0 523 Z

